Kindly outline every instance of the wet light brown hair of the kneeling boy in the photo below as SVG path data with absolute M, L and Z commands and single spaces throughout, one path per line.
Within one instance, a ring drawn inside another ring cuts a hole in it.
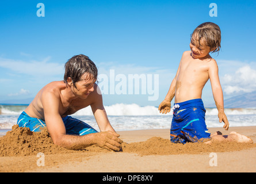
M 197 28 L 190 36 L 191 39 L 192 36 L 196 38 L 197 45 L 207 45 L 208 47 L 210 47 L 210 51 L 212 51 L 212 53 L 219 53 L 221 32 L 220 27 L 217 24 L 214 24 L 212 22 L 204 22 L 197 26 Z

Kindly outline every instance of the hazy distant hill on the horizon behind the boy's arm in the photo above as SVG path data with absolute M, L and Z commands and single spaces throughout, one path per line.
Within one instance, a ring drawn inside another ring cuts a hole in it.
M 225 108 L 256 108 L 256 91 L 224 100 Z

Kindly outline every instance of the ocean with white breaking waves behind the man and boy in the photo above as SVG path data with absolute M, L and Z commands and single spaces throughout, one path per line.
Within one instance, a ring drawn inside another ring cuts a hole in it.
M 0 136 L 17 124 L 17 118 L 28 105 L 0 105 Z M 219 123 L 216 108 L 205 108 L 205 122 L 207 127 L 223 127 Z M 109 121 L 116 131 L 129 131 L 138 129 L 169 129 L 172 112 L 160 114 L 158 107 L 139 106 L 137 104 L 114 104 L 105 106 Z M 256 108 L 234 108 L 224 110 L 230 127 L 256 126 Z M 72 117 L 78 118 L 99 131 L 91 108 L 81 109 Z M 221 131 L 221 129 L 220 129 Z

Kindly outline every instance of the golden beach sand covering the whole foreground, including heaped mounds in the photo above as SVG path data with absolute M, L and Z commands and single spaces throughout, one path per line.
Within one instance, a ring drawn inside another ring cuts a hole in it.
M 216 131 L 222 130 L 209 128 Z M 256 127 L 222 132 L 231 131 L 249 136 L 254 144 L 173 144 L 169 129 L 154 129 L 117 132 L 124 141 L 123 152 L 96 146 L 73 151 L 54 145 L 47 129 L 35 133 L 14 125 L 0 137 L 0 172 L 256 172 Z M 44 157 L 37 156 L 39 152 Z

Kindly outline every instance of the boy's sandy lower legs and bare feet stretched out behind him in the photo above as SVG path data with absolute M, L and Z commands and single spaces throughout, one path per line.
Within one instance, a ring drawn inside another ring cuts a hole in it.
M 249 137 L 241 135 L 240 133 L 230 132 L 229 135 L 222 135 L 221 132 L 217 131 L 211 136 L 211 140 L 205 142 L 205 144 L 212 143 L 212 141 L 231 141 L 237 143 L 253 143 Z

